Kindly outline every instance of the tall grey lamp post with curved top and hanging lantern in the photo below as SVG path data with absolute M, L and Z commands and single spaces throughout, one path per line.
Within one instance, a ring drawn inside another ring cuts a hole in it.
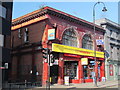
M 94 23 L 94 61 L 95 61 L 95 65 L 96 65 L 96 63 L 97 63 L 97 60 L 96 60 L 96 35 L 95 35 L 95 6 L 97 5 L 97 4 L 103 4 L 103 12 L 106 12 L 107 11 L 107 9 L 106 9 L 106 7 L 105 7 L 105 4 L 103 3 L 103 2 L 96 2 L 95 4 L 94 4 L 94 6 L 93 6 L 93 23 Z M 95 84 L 95 86 L 97 87 L 97 72 L 95 72 L 95 70 L 97 70 L 97 68 L 96 67 L 94 67 L 95 69 L 94 69 L 94 84 Z

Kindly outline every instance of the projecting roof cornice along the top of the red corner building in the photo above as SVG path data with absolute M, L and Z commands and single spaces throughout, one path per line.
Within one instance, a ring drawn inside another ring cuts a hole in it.
M 65 12 L 56 10 L 56 9 L 48 7 L 48 6 L 43 7 L 41 9 L 39 9 L 39 10 L 33 11 L 31 13 L 28 13 L 26 15 L 23 15 L 21 17 L 18 17 L 16 19 L 13 19 L 12 20 L 12 26 L 15 26 L 15 25 L 18 25 L 20 23 L 29 21 L 31 19 L 43 16 L 45 14 L 51 14 L 51 15 L 57 16 L 59 18 L 69 20 L 71 22 L 75 22 L 75 23 L 78 23 L 78 24 L 81 24 L 81 25 L 85 25 L 85 26 L 90 27 L 90 28 L 93 28 L 93 26 L 94 26 L 94 24 L 91 23 L 91 22 L 88 22 L 86 20 L 83 20 L 81 18 L 75 17 L 73 15 L 67 14 Z M 105 31 L 102 27 L 100 27 L 100 26 L 98 26 L 96 24 L 95 24 L 95 26 L 96 26 L 96 29 L 101 30 L 102 32 Z

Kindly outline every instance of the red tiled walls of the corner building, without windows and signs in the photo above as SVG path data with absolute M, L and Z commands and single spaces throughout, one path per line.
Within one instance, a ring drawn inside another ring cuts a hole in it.
M 38 12 L 39 11 L 39 12 Z M 43 18 L 44 17 L 44 18 Z M 48 29 L 56 27 L 56 39 L 48 41 Z M 28 28 L 29 42 L 24 43 L 24 32 Z M 41 10 L 34 11 L 25 15 L 24 17 L 13 20 L 12 27 L 12 69 L 11 80 L 12 81 L 41 81 L 43 85 L 48 80 L 48 63 L 42 58 L 41 48 L 52 48 L 52 43 L 62 44 L 63 33 L 67 29 L 74 29 L 77 36 L 77 48 L 82 48 L 82 39 L 85 34 L 91 35 L 93 41 L 93 23 L 87 22 L 80 18 L 58 11 L 56 9 L 45 7 Z M 19 29 L 21 30 L 21 38 L 18 37 Z M 96 39 L 103 39 L 104 29 L 96 26 Z M 96 46 L 97 50 L 98 47 Z M 69 52 L 68 52 L 69 53 Z M 65 56 L 64 53 L 58 53 L 58 84 L 64 83 L 64 65 L 66 61 L 72 61 L 77 63 L 77 79 L 70 79 L 71 83 L 84 83 L 91 82 L 92 79 L 84 79 L 83 66 L 81 65 L 81 58 L 85 57 L 78 55 L 79 57 Z M 87 57 L 92 58 L 94 57 Z M 99 58 L 98 58 L 99 60 Z M 104 58 L 102 65 L 100 66 L 100 79 L 104 77 Z M 98 65 L 96 64 L 97 68 Z M 53 67 L 51 67 L 53 68 Z M 32 71 L 32 73 L 31 73 Z M 39 74 L 36 75 L 36 72 Z M 96 72 L 98 70 L 96 69 Z M 54 75 L 53 75 L 54 76 Z M 98 76 L 98 75 L 97 75 Z M 52 76 L 51 76 L 52 77 Z

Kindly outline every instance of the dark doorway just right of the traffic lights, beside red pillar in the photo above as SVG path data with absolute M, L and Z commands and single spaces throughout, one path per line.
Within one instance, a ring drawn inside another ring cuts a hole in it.
M 50 66 L 51 84 L 55 84 L 58 81 L 58 65 Z

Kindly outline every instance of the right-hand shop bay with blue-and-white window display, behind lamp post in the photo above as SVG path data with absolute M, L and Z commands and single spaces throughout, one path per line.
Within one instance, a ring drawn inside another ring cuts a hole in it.
M 84 82 L 93 82 L 95 72 L 97 76 L 97 81 L 101 81 L 102 77 L 104 76 L 104 61 L 97 58 L 97 62 L 95 64 L 94 58 L 93 57 L 88 57 L 86 58 L 88 64 L 87 65 L 82 65 L 83 68 L 83 78 Z

